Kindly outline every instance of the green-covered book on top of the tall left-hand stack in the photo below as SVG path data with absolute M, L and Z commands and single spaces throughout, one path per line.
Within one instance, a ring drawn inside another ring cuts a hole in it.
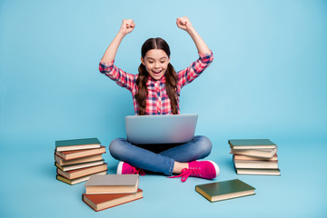
M 70 139 L 55 141 L 57 152 L 74 151 L 83 149 L 99 148 L 100 141 L 97 138 Z

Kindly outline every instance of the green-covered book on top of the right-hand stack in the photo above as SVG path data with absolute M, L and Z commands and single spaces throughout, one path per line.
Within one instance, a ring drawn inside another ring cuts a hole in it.
M 233 149 L 274 149 L 276 144 L 269 139 L 230 139 L 228 144 Z

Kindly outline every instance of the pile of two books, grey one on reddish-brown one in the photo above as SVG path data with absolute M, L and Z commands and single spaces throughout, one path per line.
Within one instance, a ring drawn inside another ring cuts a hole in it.
M 82 200 L 95 212 L 143 198 L 138 174 L 92 175 L 84 184 Z

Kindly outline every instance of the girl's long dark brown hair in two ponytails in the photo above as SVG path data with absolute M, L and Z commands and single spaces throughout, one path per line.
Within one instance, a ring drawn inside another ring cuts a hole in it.
M 170 48 L 169 45 L 162 39 L 162 38 L 149 38 L 144 42 L 144 45 L 142 45 L 141 54 L 144 58 L 147 51 L 151 49 L 162 49 L 165 54 L 170 57 Z M 138 88 L 137 93 L 135 94 L 135 99 L 137 103 L 139 104 L 139 115 L 145 114 L 145 107 L 146 107 L 146 96 L 148 94 L 147 88 L 146 88 L 146 82 L 148 80 L 148 72 L 145 69 L 144 64 L 140 64 L 138 68 L 138 78 L 136 80 L 136 85 Z M 168 97 L 171 102 L 171 108 L 173 114 L 178 114 L 178 94 L 177 94 L 177 74 L 176 71 L 173 68 L 172 64 L 168 64 L 167 70 L 164 74 L 165 76 L 165 89 L 168 94 Z

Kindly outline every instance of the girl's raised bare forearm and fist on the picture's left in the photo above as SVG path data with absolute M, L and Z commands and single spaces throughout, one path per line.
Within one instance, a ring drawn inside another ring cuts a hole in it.
M 117 53 L 118 47 L 121 44 L 125 35 L 131 33 L 134 30 L 135 24 L 132 19 L 123 20 L 121 28 L 118 34 L 114 37 L 113 42 L 106 49 L 103 58 L 101 59 L 104 63 L 114 61 L 115 54 Z

